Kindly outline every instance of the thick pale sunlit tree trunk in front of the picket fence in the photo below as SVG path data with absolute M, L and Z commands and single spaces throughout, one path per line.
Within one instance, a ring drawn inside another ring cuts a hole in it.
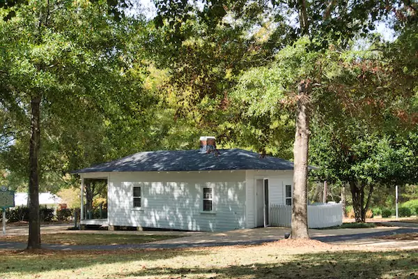
M 308 239 L 307 185 L 309 144 L 310 81 L 302 80 L 297 86 L 296 133 L 293 154 L 292 238 Z

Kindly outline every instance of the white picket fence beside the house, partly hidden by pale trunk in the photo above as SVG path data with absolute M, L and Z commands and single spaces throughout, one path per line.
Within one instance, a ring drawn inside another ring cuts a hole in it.
M 270 205 L 270 225 L 290 227 L 292 222 L 292 206 L 282 204 Z M 342 204 L 308 205 L 308 227 L 334 227 L 343 223 Z

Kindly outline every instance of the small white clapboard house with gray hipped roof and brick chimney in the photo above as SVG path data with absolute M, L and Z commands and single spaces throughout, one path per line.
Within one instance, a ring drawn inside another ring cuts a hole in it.
M 108 217 L 101 221 L 109 228 L 264 227 L 270 225 L 270 204 L 291 205 L 293 163 L 242 149 L 217 150 L 214 138 L 207 142 L 201 138 L 199 150 L 140 152 L 74 173 L 82 178 L 82 191 L 84 179 L 107 180 Z

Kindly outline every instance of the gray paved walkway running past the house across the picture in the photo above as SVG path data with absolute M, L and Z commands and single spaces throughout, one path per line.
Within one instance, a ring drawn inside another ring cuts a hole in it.
M 89 245 L 89 246 L 64 246 L 42 244 L 43 248 L 53 250 L 118 250 L 118 249 L 170 249 L 170 248 L 196 248 L 196 247 L 213 247 L 213 246 L 235 246 L 235 245 L 254 245 L 277 241 L 284 239 L 284 234 L 290 232 L 287 227 L 267 227 L 258 229 L 237 229 L 229 232 L 126 232 L 126 231 L 68 231 L 65 225 L 59 226 L 42 226 L 42 233 L 71 233 L 71 234 L 134 234 L 134 235 L 150 235 L 150 234 L 169 234 L 183 236 L 176 239 L 166 239 L 163 241 L 155 241 L 143 244 L 125 244 L 125 245 Z M 25 231 L 26 229 L 26 231 Z M 391 234 L 405 234 L 410 232 L 418 232 L 418 228 L 412 227 L 376 227 L 366 229 L 309 229 L 309 235 L 312 239 L 344 245 L 363 245 L 363 246 L 380 246 L 380 247 L 408 247 L 418 248 L 418 241 L 388 241 L 384 239 L 374 239 L 377 236 L 386 236 Z M 18 227 L 9 229 L 8 234 L 27 234 L 27 227 Z M 391 243 L 389 246 L 385 246 Z M 397 245 L 397 246 L 396 246 Z M 26 243 L 11 243 L 1 241 L 0 249 L 24 249 Z

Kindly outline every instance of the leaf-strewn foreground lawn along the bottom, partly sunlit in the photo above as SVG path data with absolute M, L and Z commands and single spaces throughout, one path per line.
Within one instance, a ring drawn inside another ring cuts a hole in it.
M 313 252 L 316 250 L 316 252 Z M 0 278 L 417 278 L 418 250 L 261 246 L 2 252 Z

